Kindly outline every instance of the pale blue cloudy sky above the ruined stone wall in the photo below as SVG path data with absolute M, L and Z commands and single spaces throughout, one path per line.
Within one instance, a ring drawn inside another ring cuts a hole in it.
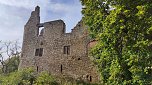
M 0 0 L 0 40 L 22 42 L 24 25 L 37 5 L 41 22 L 62 19 L 67 32 L 82 18 L 79 0 Z

